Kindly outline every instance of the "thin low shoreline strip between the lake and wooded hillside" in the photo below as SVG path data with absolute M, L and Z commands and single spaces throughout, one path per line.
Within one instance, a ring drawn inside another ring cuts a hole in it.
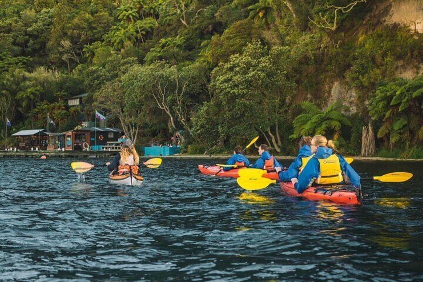
M 103 158 L 114 156 L 118 151 L 0 151 L 0 158 L 40 158 L 45 155 L 47 158 Z M 177 154 L 171 156 L 140 156 L 140 159 L 163 158 L 163 159 L 228 159 L 232 155 L 188 155 Z M 257 159 L 257 155 L 245 155 L 247 158 Z M 294 159 L 295 156 L 278 156 L 278 159 Z M 399 158 L 382 158 L 382 157 L 360 157 L 348 156 L 358 161 L 415 161 L 421 162 L 423 159 L 399 159 Z

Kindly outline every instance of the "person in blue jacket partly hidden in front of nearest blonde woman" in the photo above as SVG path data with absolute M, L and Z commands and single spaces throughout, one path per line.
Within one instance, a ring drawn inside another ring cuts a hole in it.
M 280 180 L 291 181 L 291 178 L 298 177 L 298 174 L 303 170 L 313 155 L 310 148 L 311 139 L 311 136 L 304 136 L 301 138 L 298 155 L 287 170 L 282 171 L 281 167 L 275 167 Z

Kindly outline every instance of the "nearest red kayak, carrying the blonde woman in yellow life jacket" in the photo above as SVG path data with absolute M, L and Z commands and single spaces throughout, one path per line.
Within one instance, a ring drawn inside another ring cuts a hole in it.
M 292 182 L 281 182 L 280 188 L 289 196 L 304 197 L 309 200 L 329 200 L 339 204 L 361 204 L 361 188 L 348 184 L 335 184 L 330 186 L 308 187 L 303 193 L 298 194 Z

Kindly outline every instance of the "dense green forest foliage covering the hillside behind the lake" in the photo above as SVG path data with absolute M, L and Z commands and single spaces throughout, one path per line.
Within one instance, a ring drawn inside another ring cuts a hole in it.
M 1 138 L 6 117 L 15 132 L 46 127 L 49 113 L 59 132 L 98 109 L 134 140 L 175 135 L 191 153 L 230 151 L 260 135 L 293 154 L 296 138 L 321 133 L 358 154 L 368 121 L 381 150 L 418 151 L 423 78 L 397 76 L 422 64 L 423 36 L 382 24 L 378 6 L 0 0 Z M 353 89 L 349 101 L 331 97 L 335 81 Z M 67 106 L 83 93 L 83 107 Z

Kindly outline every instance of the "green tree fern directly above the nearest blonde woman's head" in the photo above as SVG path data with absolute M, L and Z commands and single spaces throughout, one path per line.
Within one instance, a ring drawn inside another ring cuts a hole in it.
M 337 140 L 341 136 L 342 126 L 351 126 L 350 120 L 338 111 L 338 104 L 332 104 L 325 110 L 311 102 L 302 102 L 300 105 L 303 111 L 294 119 L 291 138 L 320 134 Z

